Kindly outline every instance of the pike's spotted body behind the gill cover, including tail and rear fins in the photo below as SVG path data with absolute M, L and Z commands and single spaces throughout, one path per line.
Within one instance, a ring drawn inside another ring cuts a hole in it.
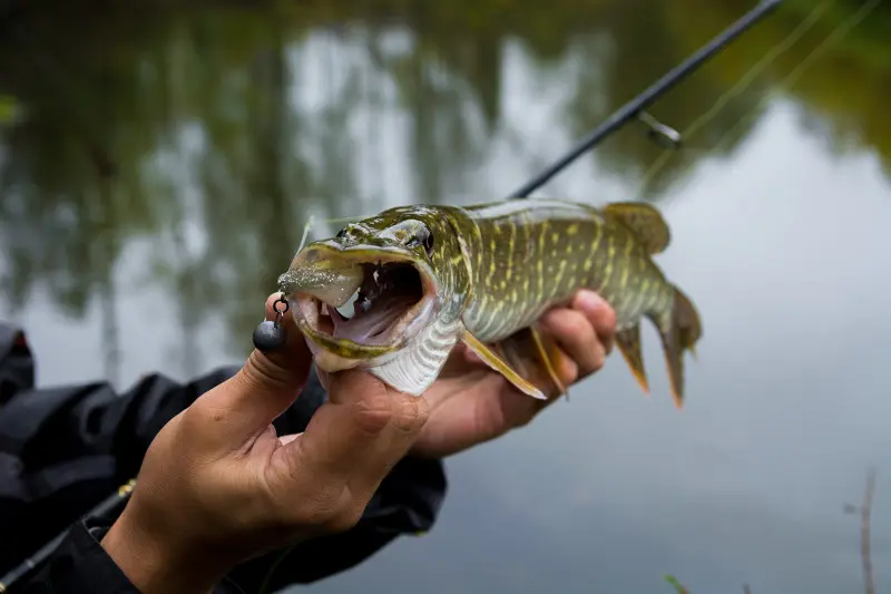
M 473 288 L 462 321 L 478 340 L 508 340 L 578 289 L 590 289 L 615 310 L 617 345 L 645 391 L 640 320 L 656 325 L 675 403 L 683 405 L 683 354 L 693 351 L 702 327 L 693 303 L 652 259 L 670 240 L 655 207 L 531 198 L 452 208 L 451 216 L 462 230 Z

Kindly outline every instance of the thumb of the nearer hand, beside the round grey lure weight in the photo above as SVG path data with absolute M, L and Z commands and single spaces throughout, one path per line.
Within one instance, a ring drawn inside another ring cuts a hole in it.
M 275 319 L 277 298 L 275 293 L 266 300 L 266 320 Z M 216 435 L 234 447 L 265 430 L 294 402 L 309 377 L 312 356 L 290 311 L 281 328 L 286 333 L 281 350 L 263 353 L 254 349 L 231 380 L 199 397 L 190 410 L 202 422 L 213 422 Z

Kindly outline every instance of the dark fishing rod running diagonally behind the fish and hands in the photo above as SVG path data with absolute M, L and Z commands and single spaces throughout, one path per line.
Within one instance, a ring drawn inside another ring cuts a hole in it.
M 639 119 L 648 127 L 648 135 L 654 142 L 666 148 L 678 147 L 682 142 L 681 135 L 673 128 L 660 124 L 658 120 L 656 120 L 656 118 L 647 114 L 645 109 L 653 105 L 658 98 L 665 95 L 681 80 L 699 68 L 706 60 L 723 50 L 753 25 L 777 8 L 782 1 L 783 0 L 762 0 L 762 2 L 760 2 L 754 9 L 738 18 L 735 22 L 733 22 L 730 27 L 712 39 L 708 43 L 703 46 L 695 53 L 693 53 L 684 62 L 676 66 L 660 79 L 654 82 L 649 88 L 613 113 L 613 115 L 610 115 L 603 124 L 597 126 L 587 136 L 585 136 L 575 147 L 569 149 L 564 156 L 555 160 L 552 165 L 527 182 L 522 187 L 508 197 L 527 197 L 529 194 L 545 185 L 551 177 L 571 165 L 572 162 L 575 162 L 579 156 L 603 143 L 611 134 L 618 132 L 623 126 L 635 118 Z M 129 480 L 126 485 L 119 487 L 115 494 L 110 495 L 99 505 L 90 509 L 86 515 L 81 516 L 81 520 L 110 515 L 119 509 L 123 509 L 135 486 L 136 479 Z M 56 547 L 59 546 L 62 539 L 67 536 L 69 529 L 70 528 L 57 535 L 52 541 L 40 547 L 40 549 L 38 549 L 33 555 L 29 556 L 6 575 L 0 577 L 0 594 L 11 592 L 10 588 L 14 583 L 19 582 L 23 577 L 28 576 L 31 572 L 37 569 L 52 554 Z

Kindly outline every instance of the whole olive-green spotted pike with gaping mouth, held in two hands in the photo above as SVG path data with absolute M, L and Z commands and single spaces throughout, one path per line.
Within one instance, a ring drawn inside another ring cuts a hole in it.
M 300 249 L 278 288 L 323 371 L 364 369 L 421 396 L 463 343 L 538 399 L 567 393 L 559 345 L 538 321 L 590 289 L 615 311 L 616 347 L 647 395 L 642 320 L 656 327 L 679 409 L 702 323 L 653 260 L 669 242 L 659 211 L 642 202 L 404 205 Z

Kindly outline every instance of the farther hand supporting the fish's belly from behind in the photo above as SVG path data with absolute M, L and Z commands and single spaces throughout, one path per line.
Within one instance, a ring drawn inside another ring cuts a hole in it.
M 613 349 L 616 314 L 597 293 L 582 290 L 568 308 L 542 315 L 540 330 L 557 340 L 560 357 L 555 371 L 564 386 L 571 386 L 604 366 Z M 499 437 L 528 423 L 556 400 L 521 393 L 461 345 L 424 397 L 430 418 L 411 454 L 429 457 L 449 456 Z

